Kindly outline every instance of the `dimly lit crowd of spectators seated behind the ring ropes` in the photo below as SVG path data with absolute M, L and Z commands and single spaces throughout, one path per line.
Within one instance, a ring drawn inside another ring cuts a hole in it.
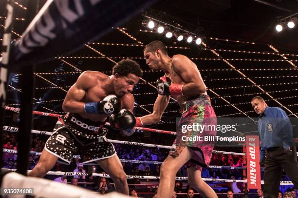
M 34 152 L 41 152 L 48 136 L 37 136 L 33 134 L 32 140 L 32 149 L 33 151 L 29 156 L 29 165 L 28 169 L 32 170 L 35 165 L 37 165 L 39 161 L 39 155 L 35 154 Z M 128 138 L 128 137 L 114 137 L 115 139 Z M 159 144 L 155 140 L 151 142 L 144 138 L 142 133 L 139 133 L 134 137 L 134 142 L 146 142 L 151 144 Z M 16 143 L 16 136 L 15 134 L 11 133 L 4 133 L 4 145 L 3 148 L 8 149 L 18 149 L 18 145 Z M 171 142 L 170 140 L 169 142 Z M 162 145 L 167 145 L 165 142 Z M 170 143 L 168 143 L 170 145 Z M 131 146 L 131 145 L 123 145 L 123 144 L 114 144 L 114 147 L 117 151 L 117 154 L 120 159 L 124 160 L 137 160 L 137 161 L 147 161 L 147 162 L 163 162 L 164 159 L 168 155 L 168 150 L 164 148 L 149 148 L 149 147 L 138 147 L 138 146 Z M 218 150 L 226 150 L 229 151 L 228 148 L 216 148 Z M 233 148 L 233 152 L 242 152 L 242 148 L 238 148 L 235 151 Z M 16 168 L 16 160 L 17 154 L 13 153 L 3 153 L 3 168 Z M 242 167 L 244 166 L 243 158 L 239 155 L 224 155 L 214 153 L 212 155 L 212 159 L 210 165 L 218 165 L 218 166 L 232 166 L 232 167 Z M 139 175 L 139 176 L 159 176 L 160 175 L 160 164 L 148 164 L 148 163 L 125 163 L 122 162 L 122 166 L 127 175 Z M 91 168 L 91 170 L 89 170 Z M 55 167 L 52 171 L 65 171 L 65 172 L 93 172 L 93 173 L 104 173 L 104 171 L 95 165 L 83 165 L 80 159 L 73 159 L 70 165 L 64 165 L 63 163 L 59 162 L 56 163 Z M 242 169 L 225 169 L 225 168 L 203 168 L 202 170 L 202 178 L 214 178 L 214 179 L 232 179 L 232 180 L 242 180 L 243 179 L 243 170 Z M 183 166 L 177 176 L 187 176 L 187 169 L 186 166 Z M 101 177 L 94 177 L 94 176 L 54 176 L 54 175 L 46 175 L 45 178 L 54 180 L 56 182 L 61 183 L 71 183 L 73 185 L 79 185 L 85 188 L 89 188 L 101 194 L 106 194 L 111 191 L 114 191 L 114 187 L 111 184 L 111 180 L 108 178 L 101 178 Z M 289 180 L 287 175 L 283 175 L 282 180 Z M 129 179 L 129 183 L 140 183 L 140 181 L 149 181 L 146 179 Z M 81 182 L 84 182 L 83 184 Z M 212 187 L 227 187 L 229 190 L 232 190 L 234 193 L 243 192 L 242 183 L 232 183 L 232 182 L 212 182 L 209 183 Z M 175 192 L 176 193 L 186 193 L 188 194 L 188 190 L 190 186 L 188 185 L 185 188 L 183 187 L 183 182 L 177 181 L 175 184 Z M 291 189 L 287 189 L 291 190 Z M 193 191 L 193 190 L 191 190 Z M 194 191 L 195 192 L 195 191 Z M 294 191 L 293 191 L 294 192 Z M 136 192 L 135 192 L 136 193 Z M 292 193 L 293 194 L 293 193 Z M 133 196 L 133 193 L 132 193 Z M 294 195 L 293 195 L 294 196 Z M 179 197 L 179 196 L 177 196 Z M 296 198 L 296 197 L 292 197 Z

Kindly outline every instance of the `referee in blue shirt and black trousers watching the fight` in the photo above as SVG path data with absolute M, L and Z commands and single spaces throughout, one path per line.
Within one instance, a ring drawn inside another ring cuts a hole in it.
M 278 107 L 268 107 L 260 97 L 251 99 L 251 105 L 260 115 L 258 122 L 261 150 L 260 161 L 265 164 L 264 197 L 277 198 L 282 169 L 298 188 L 298 163 L 293 127 L 286 113 Z

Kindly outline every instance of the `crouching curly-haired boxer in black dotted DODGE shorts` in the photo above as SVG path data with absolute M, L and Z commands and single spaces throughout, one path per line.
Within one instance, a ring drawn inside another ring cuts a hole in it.
M 83 164 L 96 162 L 111 176 L 116 191 L 128 195 L 126 174 L 112 143 L 107 142 L 108 130 L 103 123 L 110 116 L 112 128 L 132 134 L 136 120 L 130 92 L 141 76 L 140 66 L 130 59 L 117 63 L 112 76 L 83 72 L 63 101 L 62 109 L 68 113 L 58 118 L 38 164 L 28 176 L 44 177 L 58 159 L 70 163 L 73 155 L 79 154 Z

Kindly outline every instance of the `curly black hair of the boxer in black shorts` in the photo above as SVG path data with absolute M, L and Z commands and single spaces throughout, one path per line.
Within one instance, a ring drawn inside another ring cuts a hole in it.
M 140 65 L 131 59 L 123 59 L 113 66 L 112 74 L 115 75 L 116 73 L 120 76 L 127 76 L 130 73 L 137 77 L 142 77 L 143 75 Z

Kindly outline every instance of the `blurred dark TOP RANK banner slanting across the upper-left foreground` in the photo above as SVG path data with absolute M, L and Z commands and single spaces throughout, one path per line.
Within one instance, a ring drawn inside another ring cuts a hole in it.
M 13 49 L 13 66 L 40 63 L 83 47 L 154 0 L 48 0 Z

